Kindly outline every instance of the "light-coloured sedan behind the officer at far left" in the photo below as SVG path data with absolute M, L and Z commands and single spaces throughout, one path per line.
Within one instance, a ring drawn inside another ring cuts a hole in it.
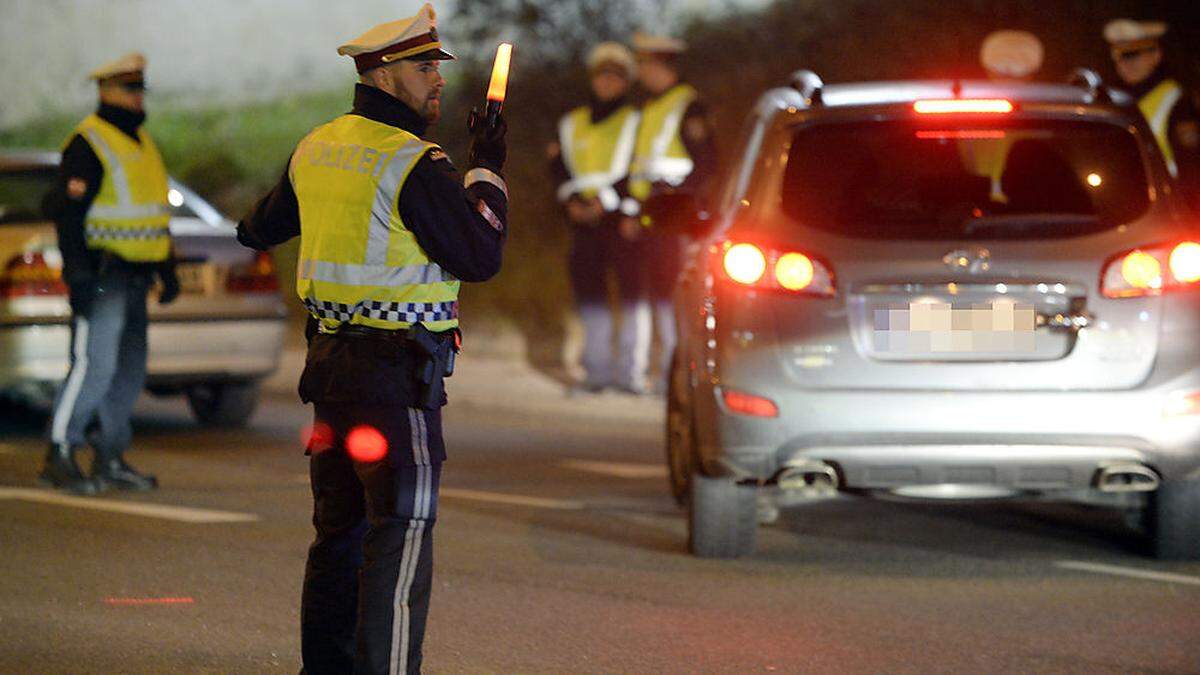
M 0 393 L 42 405 L 70 353 L 62 256 L 40 208 L 58 162 L 52 153 L 0 151 Z M 280 363 L 286 307 L 275 267 L 176 180 L 169 201 L 182 292 L 168 306 L 150 301 L 146 388 L 186 394 L 204 424 L 240 425 Z

